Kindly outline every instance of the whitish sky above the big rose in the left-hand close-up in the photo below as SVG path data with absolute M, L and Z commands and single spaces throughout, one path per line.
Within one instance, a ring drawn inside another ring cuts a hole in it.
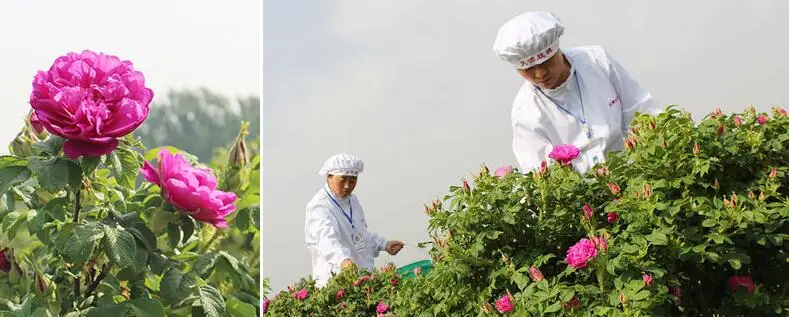
M 131 60 L 154 90 L 204 86 L 259 95 L 259 0 L 0 1 L 0 153 L 30 110 L 33 76 L 91 49 Z

